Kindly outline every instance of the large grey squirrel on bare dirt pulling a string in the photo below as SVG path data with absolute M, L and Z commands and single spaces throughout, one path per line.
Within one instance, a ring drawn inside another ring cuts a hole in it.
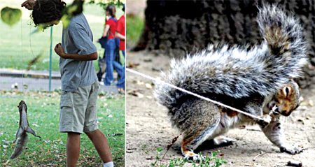
M 286 143 L 279 114 L 290 115 L 300 103 L 293 79 L 302 75 L 307 64 L 303 29 L 293 15 L 276 6 L 259 8 L 257 20 L 264 38 L 261 45 L 209 45 L 195 55 L 172 60 L 169 73 L 162 73 L 160 79 L 260 119 L 155 82 L 155 97 L 169 108 L 172 124 L 183 135 L 181 151 L 186 158 L 197 159 L 193 150 L 205 140 L 230 143 L 232 140 L 221 135 L 244 123 L 259 124 L 281 152 L 302 152 Z M 277 114 L 270 115 L 272 112 Z

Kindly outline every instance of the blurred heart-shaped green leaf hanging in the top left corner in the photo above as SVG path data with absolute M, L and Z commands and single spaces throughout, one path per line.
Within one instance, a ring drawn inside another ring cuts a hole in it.
M 21 19 L 22 12 L 18 8 L 5 7 L 1 9 L 1 20 L 10 27 Z

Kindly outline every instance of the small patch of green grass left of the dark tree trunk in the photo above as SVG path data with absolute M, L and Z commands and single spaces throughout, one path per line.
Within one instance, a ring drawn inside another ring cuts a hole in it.
M 132 47 L 132 45 L 137 44 L 143 29 L 144 29 L 143 18 L 135 15 L 127 15 L 126 20 L 126 38 L 128 39 L 127 48 L 130 48 Z

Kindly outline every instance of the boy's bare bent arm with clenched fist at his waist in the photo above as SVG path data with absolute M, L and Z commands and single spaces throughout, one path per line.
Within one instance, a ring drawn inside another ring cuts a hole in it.
M 97 52 L 94 52 L 90 55 L 66 54 L 64 52 L 64 48 L 62 48 L 61 43 L 58 43 L 55 46 L 55 52 L 57 53 L 57 55 L 59 55 L 59 57 L 62 57 L 64 59 L 75 59 L 80 61 L 96 60 L 98 57 Z

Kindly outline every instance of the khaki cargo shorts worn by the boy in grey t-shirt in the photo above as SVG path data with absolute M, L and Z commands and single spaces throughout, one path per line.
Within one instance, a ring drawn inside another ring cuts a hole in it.
M 64 92 L 60 96 L 59 132 L 87 133 L 97 126 L 98 82 L 78 87 L 76 92 Z

